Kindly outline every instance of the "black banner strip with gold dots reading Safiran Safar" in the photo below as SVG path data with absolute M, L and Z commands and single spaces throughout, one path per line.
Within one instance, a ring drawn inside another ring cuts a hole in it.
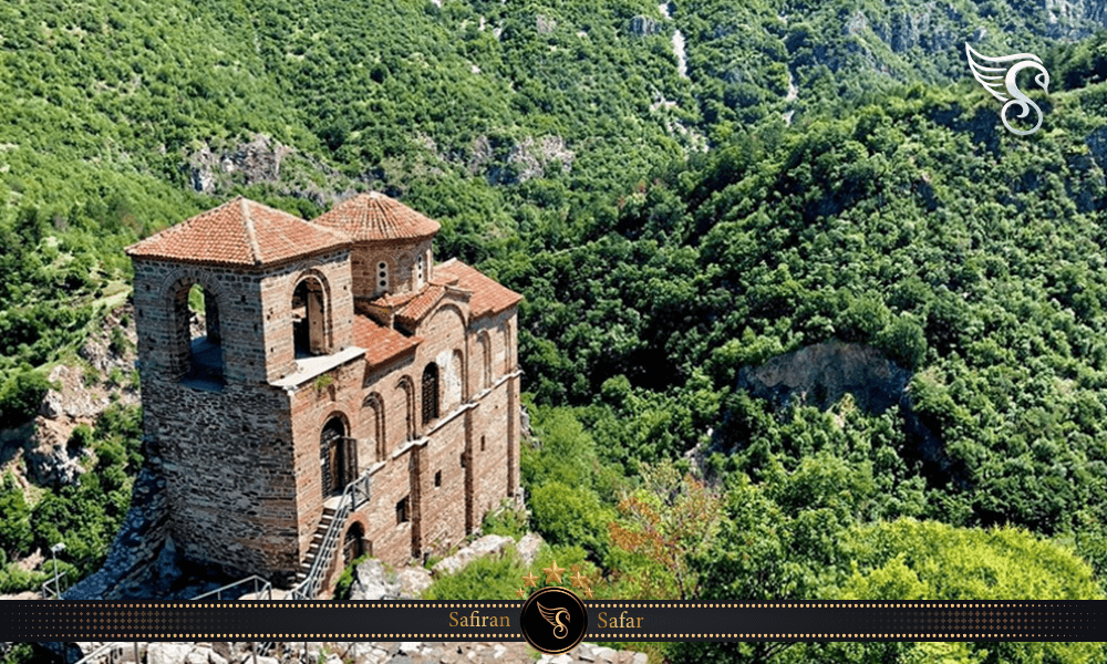
M 1107 602 L 586 601 L 590 641 L 1099 641 Z M 0 641 L 523 641 L 523 601 L 0 602 Z

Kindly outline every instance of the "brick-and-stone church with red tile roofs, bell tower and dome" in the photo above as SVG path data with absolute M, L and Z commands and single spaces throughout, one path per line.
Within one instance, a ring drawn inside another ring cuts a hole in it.
M 312 221 L 239 197 L 127 248 L 145 436 L 186 558 L 333 580 L 363 552 L 444 551 L 518 495 L 521 297 L 435 263 L 438 229 L 375 193 Z

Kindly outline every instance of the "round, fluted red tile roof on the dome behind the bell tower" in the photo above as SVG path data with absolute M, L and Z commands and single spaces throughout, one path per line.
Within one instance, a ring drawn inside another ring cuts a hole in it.
M 317 217 L 315 224 L 349 234 L 354 241 L 427 238 L 442 226 L 384 194 L 359 194 Z

